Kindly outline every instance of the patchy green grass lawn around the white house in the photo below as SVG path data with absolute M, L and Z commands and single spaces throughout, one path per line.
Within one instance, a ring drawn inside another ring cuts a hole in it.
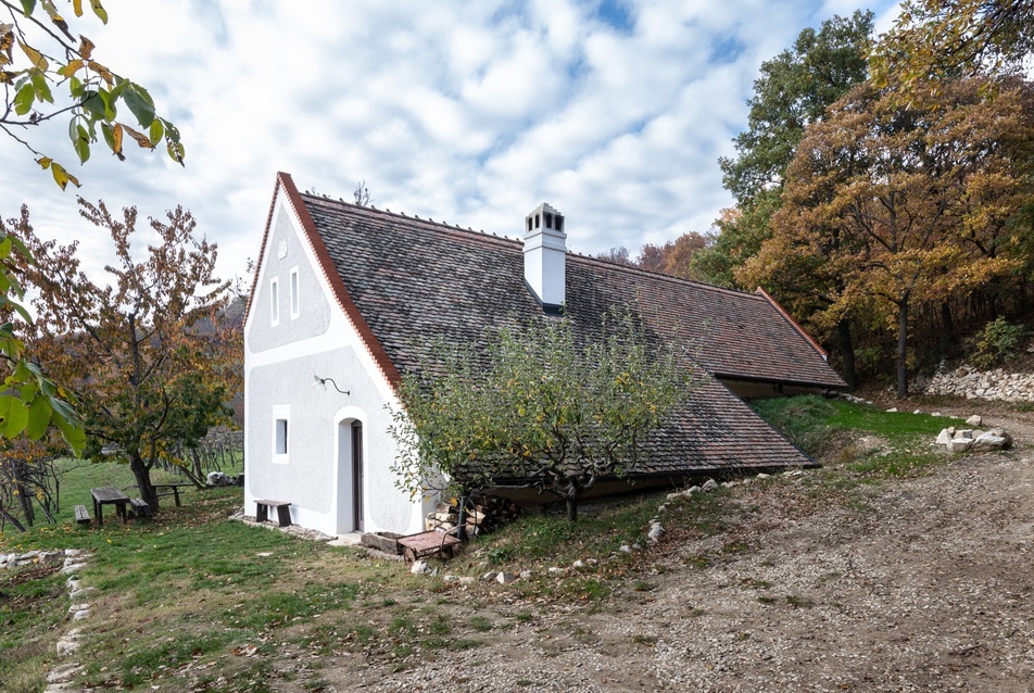
M 758 408 L 825 463 L 794 492 L 817 506 L 830 499 L 856 503 L 858 512 L 865 512 L 859 488 L 922 474 L 949 458 L 929 440 L 958 424 L 818 398 L 770 401 Z M 831 445 L 845 432 L 871 433 L 879 444 L 873 450 Z M 527 569 L 532 578 L 505 587 L 461 585 L 411 576 L 403 564 L 361 551 L 228 521 L 242 504 L 238 488 L 188 490 L 179 508 L 163 499 L 152 520 L 80 528 L 72 520 L 73 504 L 87 504 L 93 486 L 131 486 L 131 475 L 122 465 L 67 462 L 65 469 L 59 524 L 0 534 L 0 552 L 93 553 L 79 576 L 96 592 L 86 621 L 89 638 L 76 660 L 86 664 L 79 681 L 101 689 L 258 693 L 290 682 L 317 691 L 321 668 L 340 653 L 404 669 L 416 656 L 478 647 L 493 631 L 533 622 L 557 602 L 614 608 L 615 593 L 623 603 L 653 589 L 655 558 L 665 551 L 664 544 L 631 554 L 619 550 L 643 542 L 663 499 L 641 495 L 583 512 L 573 527 L 559 516 L 531 515 L 474 540 L 445 566 L 449 572 L 478 578 L 489 570 Z M 790 484 L 758 482 L 670 503 L 664 516 L 669 545 L 727 531 L 751 512 L 747 493 L 787 492 L 781 487 Z M 795 500 L 793 507 L 806 505 Z M 699 556 L 698 565 L 749 551 L 749 541 L 731 538 Z M 597 562 L 563 577 L 547 571 L 587 558 Z M 66 577 L 46 567 L 0 571 L 4 691 L 42 691 L 46 673 L 66 662 L 55 654 L 58 639 L 73 628 Z

